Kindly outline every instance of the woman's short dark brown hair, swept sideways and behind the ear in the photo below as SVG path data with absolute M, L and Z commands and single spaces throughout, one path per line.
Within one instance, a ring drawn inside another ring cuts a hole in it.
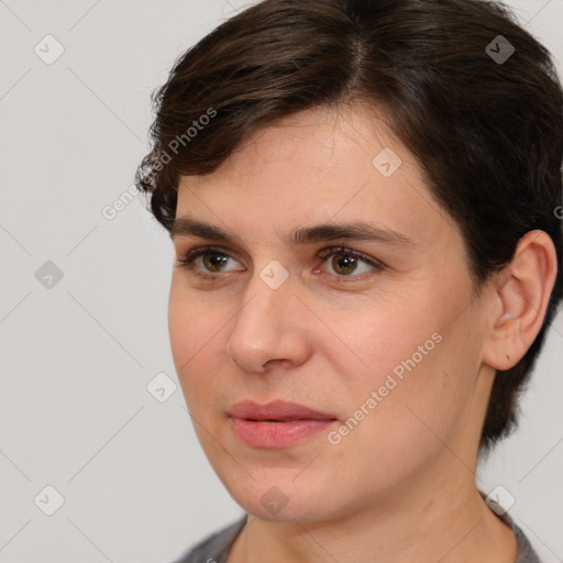
M 526 232 L 541 229 L 555 245 L 543 325 L 518 364 L 495 377 L 481 439 L 489 449 L 516 427 L 518 394 L 562 296 L 563 92 L 550 53 L 506 5 L 252 5 L 183 54 L 153 93 L 153 145 L 135 183 L 169 231 L 180 175 L 214 170 L 244 135 L 278 118 L 356 101 L 383 108 L 418 158 L 432 196 L 460 227 L 476 288 L 511 261 Z

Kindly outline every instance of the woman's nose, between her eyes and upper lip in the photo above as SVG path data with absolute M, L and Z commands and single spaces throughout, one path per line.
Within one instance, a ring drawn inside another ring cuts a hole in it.
M 256 272 L 244 292 L 227 343 L 227 355 L 241 368 L 265 373 L 269 367 L 291 367 L 307 361 L 310 331 L 307 308 L 291 289 L 291 277 L 273 289 Z

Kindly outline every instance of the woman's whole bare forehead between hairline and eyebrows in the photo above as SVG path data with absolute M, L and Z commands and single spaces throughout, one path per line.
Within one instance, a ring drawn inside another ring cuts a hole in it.
M 213 173 L 181 177 L 177 218 L 257 236 L 360 220 L 420 241 L 448 227 L 422 178 L 374 112 L 316 108 L 253 132 Z

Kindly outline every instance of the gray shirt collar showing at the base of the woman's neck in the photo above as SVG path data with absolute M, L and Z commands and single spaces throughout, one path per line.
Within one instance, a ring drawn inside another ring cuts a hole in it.
M 240 520 L 221 528 L 207 536 L 201 542 L 190 549 L 181 559 L 174 563 L 227 563 L 227 555 L 232 543 L 244 528 L 249 515 L 244 515 Z M 517 542 L 517 555 L 515 563 L 541 563 L 536 551 L 531 547 L 528 538 L 522 530 L 516 526 L 514 520 L 504 514 L 499 517 L 512 528 Z

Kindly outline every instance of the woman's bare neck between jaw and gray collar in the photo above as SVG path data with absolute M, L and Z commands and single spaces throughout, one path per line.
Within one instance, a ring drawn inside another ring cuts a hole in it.
M 460 462 L 451 471 L 460 473 Z M 512 563 L 516 539 L 484 503 L 473 475 L 411 483 L 400 495 L 336 519 L 301 525 L 249 516 L 228 563 Z

